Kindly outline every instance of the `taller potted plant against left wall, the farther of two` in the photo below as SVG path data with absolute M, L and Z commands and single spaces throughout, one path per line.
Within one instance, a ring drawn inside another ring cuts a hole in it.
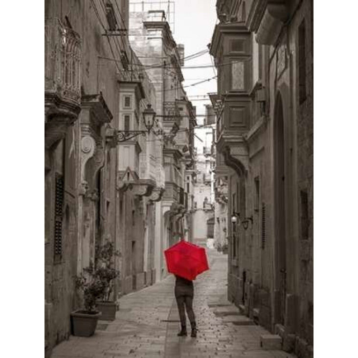
M 112 321 L 115 319 L 116 302 L 111 300 L 114 279 L 119 275 L 115 269 L 115 257 L 119 252 L 114 250 L 113 243 L 107 241 L 103 246 L 96 247 L 95 265 L 96 275 L 104 284 L 104 290 L 96 300 L 97 309 L 102 312 L 102 319 Z

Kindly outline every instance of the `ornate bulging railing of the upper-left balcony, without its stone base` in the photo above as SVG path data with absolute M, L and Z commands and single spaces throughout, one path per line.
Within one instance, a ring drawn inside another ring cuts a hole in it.
M 80 102 L 81 41 L 59 19 L 45 19 L 45 90 Z

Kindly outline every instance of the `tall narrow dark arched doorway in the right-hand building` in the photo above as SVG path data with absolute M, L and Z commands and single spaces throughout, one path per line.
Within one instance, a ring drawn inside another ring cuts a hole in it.
M 276 95 L 274 110 L 274 323 L 285 323 L 286 302 L 286 208 L 285 208 L 285 134 L 281 93 Z

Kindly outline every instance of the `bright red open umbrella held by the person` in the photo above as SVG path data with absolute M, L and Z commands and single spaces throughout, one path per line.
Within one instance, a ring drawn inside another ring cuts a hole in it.
M 209 269 L 205 249 L 187 241 L 179 241 L 164 251 L 168 272 L 188 280 Z

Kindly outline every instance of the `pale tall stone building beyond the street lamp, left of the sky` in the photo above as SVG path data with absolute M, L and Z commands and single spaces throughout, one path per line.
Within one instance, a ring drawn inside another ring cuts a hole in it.
M 155 110 L 162 141 L 165 191 L 156 204 L 156 279 L 166 275 L 163 251 L 188 239 L 191 227 L 191 186 L 194 173 L 195 109 L 182 88 L 183 45 L 177 45 L 166 13 L 156 4 L 130 4 L 131 46 L 156 90 Z M 149 6 L 147 8 L 147 5 Z M 189 191 L 188 191 L 189 190 Z

